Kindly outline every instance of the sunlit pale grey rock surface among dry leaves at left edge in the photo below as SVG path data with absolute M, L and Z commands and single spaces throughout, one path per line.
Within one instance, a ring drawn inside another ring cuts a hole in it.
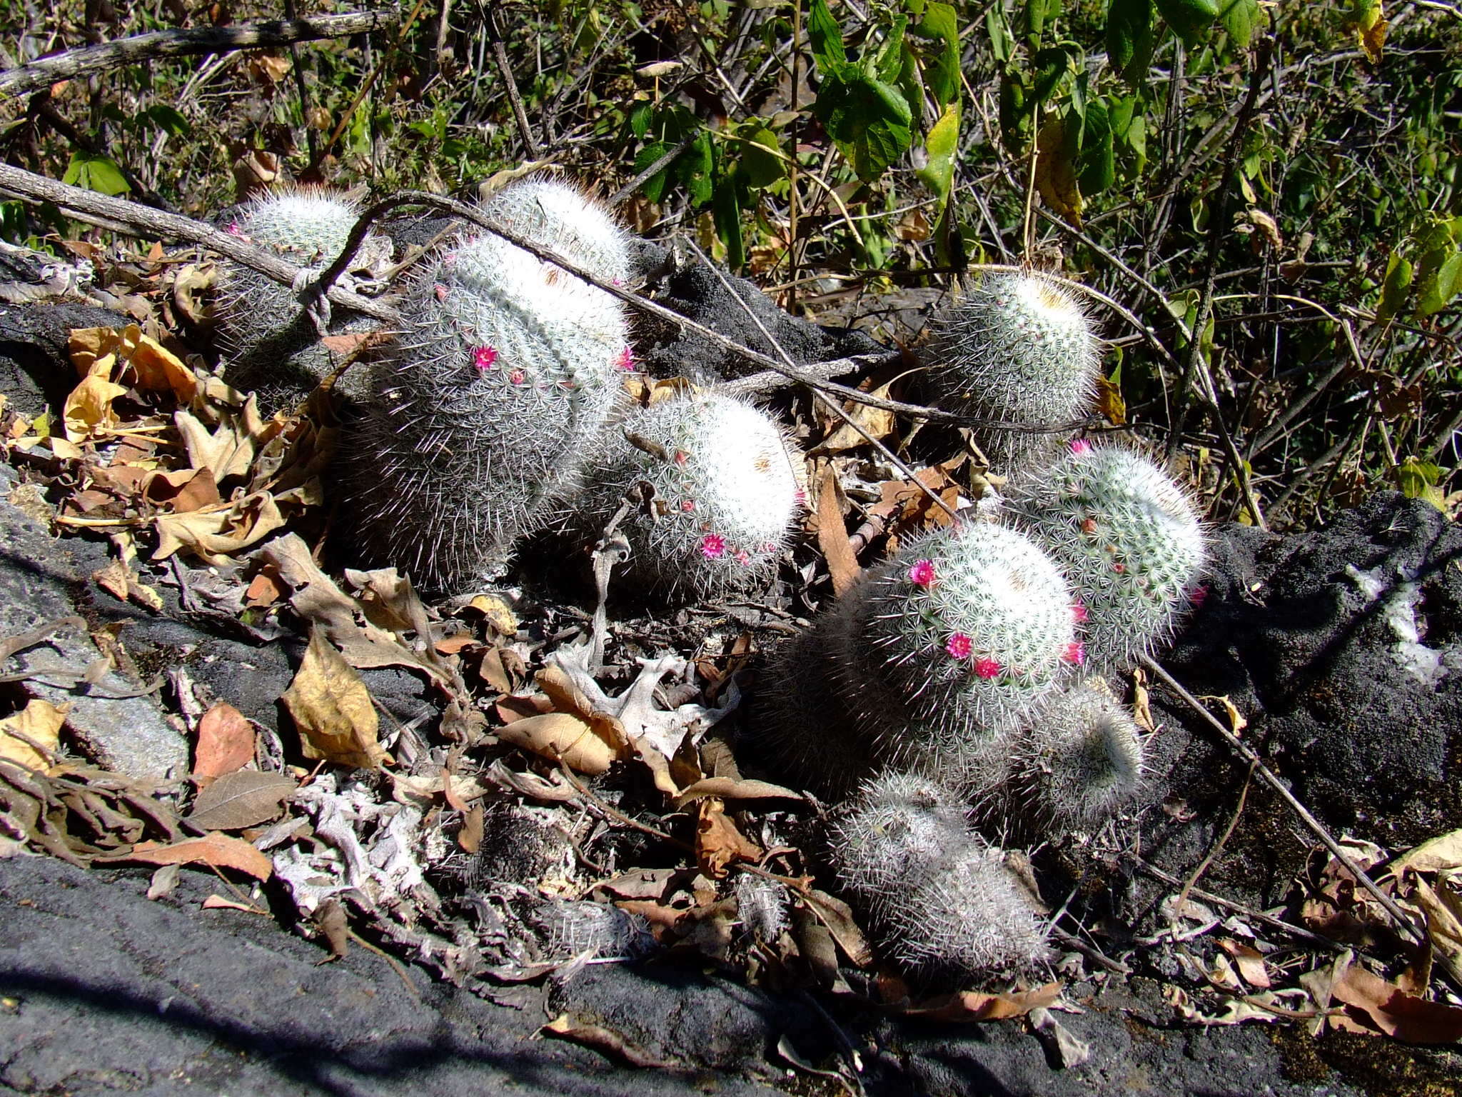
M 66 548 L 7 502 L 15 483 L 15 472 L 0 465 L 0 638 L 76 616 L 70 595 L 83 582 Z M 118 696 L 136 693 L 143 683 L 115 670 L 95 686 L 75 680 L 99 658 L 86 632 L 67 625 L 15 655 L 3 673 L 32 671 L 35 677 L 23 683 L 28 695 L 57 706 L 70 704 L 67 727 L 107 768 L 143 781 L 183 775 L 187 742 L 152 695 Z

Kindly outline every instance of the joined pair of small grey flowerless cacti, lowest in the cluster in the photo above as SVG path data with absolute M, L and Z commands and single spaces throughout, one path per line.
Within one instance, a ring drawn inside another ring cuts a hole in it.
M 937 785 L 901 775 L 870 781 L 829 847 L 877 945 L 905 970 L 965 980 L 1048 960 L 1035 897 Z

